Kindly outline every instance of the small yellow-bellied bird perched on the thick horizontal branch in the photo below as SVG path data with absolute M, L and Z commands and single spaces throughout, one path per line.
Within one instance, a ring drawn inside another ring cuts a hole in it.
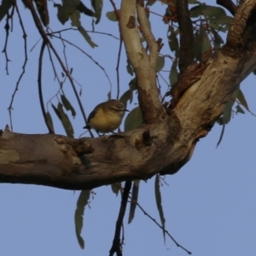
M 125 106 L 118 100 L 109 100 L 97 105 L 88 117 L 88 123 L 84 129 L 94 129 L 99 132 L 113 132 L 119 127 L 124 117 Z

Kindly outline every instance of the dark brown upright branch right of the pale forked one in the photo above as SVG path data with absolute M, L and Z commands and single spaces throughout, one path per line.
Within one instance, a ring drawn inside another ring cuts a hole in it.
M 189 15 L 188 0 L 177 2 L 177 22 L 180 31 L 180 50 L 178 67 L 181 73 L 189 67 L 194 60 L 194 34 Z

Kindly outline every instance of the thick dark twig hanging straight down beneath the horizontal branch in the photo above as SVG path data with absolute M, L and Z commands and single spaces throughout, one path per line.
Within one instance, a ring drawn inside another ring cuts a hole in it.
M 126 181 L 125 182 L 125 189 L 122 195 L 122 201 L 121 201 L 121 206 L 119 208 L 119 217 L 116 221 L 115 225 L 115 232 L 113 236 L 113 244 L 112 247 L 109 251 L 109 256 L 113 256 L 113 253 L 116 253 L 117 256 L 122 256 L 122 244 L 120 242 L 120 233 L 121 233 L 121 228 L 123 224 L 123 219 L 125 217 L 125 209 L 129 197 L 129 192 L 131 190 L 131 181 Z M 124 240 L 124 239 L 122 239 Z

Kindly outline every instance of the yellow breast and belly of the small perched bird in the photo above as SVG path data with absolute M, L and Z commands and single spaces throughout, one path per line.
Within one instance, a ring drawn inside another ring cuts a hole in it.
M 121 124 L 123 115 L 103 111 L 102 108 L 96 111 L 96 114 L 90 119 L 91 128 L 102 133 L 114 131 Z

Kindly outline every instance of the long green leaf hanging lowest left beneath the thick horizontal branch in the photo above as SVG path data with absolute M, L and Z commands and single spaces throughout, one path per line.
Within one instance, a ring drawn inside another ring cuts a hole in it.
M 79 246 L 84 249 L 84 239 L 81 236 L 84 223 L 84 207 L 90 199 L 90 190 L 82 190 L 77 201 L 77 209 L 74 214 L 76 236 L 79 241 Z

